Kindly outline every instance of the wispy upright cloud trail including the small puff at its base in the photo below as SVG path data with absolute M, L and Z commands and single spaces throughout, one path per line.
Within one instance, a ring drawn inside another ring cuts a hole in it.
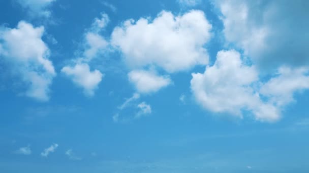
M 104 74 L 99 70 L 90 70 L 89 62 L 101 55 L 108 46 L 108 41 L 100 35 L 106 27 L 109 18 L 106 14 L 101 14 L 101 18 L 95 18 L 91 27 L 85 32 L 85 46 L 82 50 L 81 58 L 73 60 L 71 65 L 61 69 L 72 81 L 84 90 L 86 96 L 94 96 Z

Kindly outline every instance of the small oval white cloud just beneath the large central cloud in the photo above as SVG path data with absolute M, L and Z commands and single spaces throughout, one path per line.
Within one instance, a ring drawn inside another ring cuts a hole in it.
M 153 71 L 133 70 L 129 74 L 129 81 L 135 85 L 139 93 L 154 93 L 171 84 L 169 76 L 158 76 Z

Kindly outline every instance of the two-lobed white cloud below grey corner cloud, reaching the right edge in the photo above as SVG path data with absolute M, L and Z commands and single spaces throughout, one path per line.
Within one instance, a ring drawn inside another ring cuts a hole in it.
M 309 88 L 305 69 L 278 71 L 262 82 L 255 66 L 246 64 L 238 52 L 220 51 L 213 66 L 192 74 L 191 89 L 196 101 L 210 111 L 242 117 L 245 110 L 257 120 L 275 121 L 295 92 Z

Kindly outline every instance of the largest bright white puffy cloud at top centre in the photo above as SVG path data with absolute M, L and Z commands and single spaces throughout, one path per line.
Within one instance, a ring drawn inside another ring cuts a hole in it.
M 114 28 L 111 43 L 133 69 L 157 65 L 167 72 L 176 72 L 208 63 L 203 46 L 210 39 L 210 30 L 202 11 L 182 16 L 163 11 L 153 20 L 125 21 Z

